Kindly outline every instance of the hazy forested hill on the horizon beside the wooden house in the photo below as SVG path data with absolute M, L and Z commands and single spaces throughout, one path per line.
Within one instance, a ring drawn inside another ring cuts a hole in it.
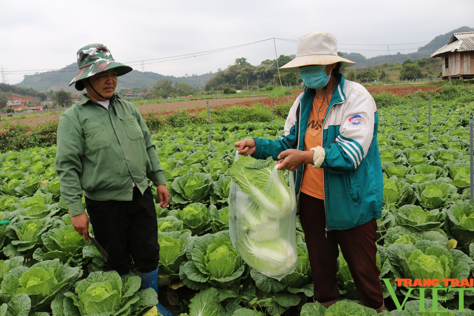
M 394 54 L 394 55 L 381 55 L 375 56 L 371 58 L 365 58 L 365 56 L 359 53 L 344 53 L 344 58 L 352 60 L 353 62 L 357 63 L 354 65 L 355 67 L 368 67 L 370 65 L 376 65 L 384 62 L 390 63 L 403 63 L 407 59 L 419 59 L 419 58 L 428 58 L 431 54 L 436 52 L 439 48 L 445 46 L 453 33 L 460 33 L 460 32 L 473 32 L 474 28 L 470 28 L 467 26 L 453 29 L 450 32 L 447 32 L 443 35 L 438 35 L 437 37 L 433 38 L 428 44 L 421 46 L 418 48 L 417 52 L 409 53 L 409 54 Z

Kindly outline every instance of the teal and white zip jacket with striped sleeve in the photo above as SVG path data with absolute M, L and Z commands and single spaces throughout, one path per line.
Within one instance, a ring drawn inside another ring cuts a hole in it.
M 382 216 L 382 163 L 377 144 L 378 115 L 374 99 L 360 84 L 339 76 L 323 122 L 324 203 L 326 227 L 346 230 Z M 278 155 L 286 149 L 304 150 L 315 90 L 301 93 L 286 119 L 279 139 L 255 139 L 255 158 Z M 322 149 L 321 149 L 322 150 Z M 300 196 L 304 165 L 297 170 L 295 190 Z M 298 203 L 299 204 L 299 203 Z

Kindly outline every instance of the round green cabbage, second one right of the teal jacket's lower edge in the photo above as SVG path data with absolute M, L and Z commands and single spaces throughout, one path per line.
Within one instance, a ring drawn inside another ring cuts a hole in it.
M 428 209 L 447 206 L 458 197 L 456 186 L 441 180 L 413 183 L 411 187 L 414 189 L 419 204 Z

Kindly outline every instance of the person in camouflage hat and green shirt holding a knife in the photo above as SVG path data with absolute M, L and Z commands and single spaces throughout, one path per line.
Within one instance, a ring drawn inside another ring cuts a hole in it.
M 86 242 L 90 217 L 95 238 L 109 256 L 104 271 L 130 273 L 131 256 L 142 288 L 158 292 L 160 248 L 148 179 L 157 187 L 161 207 L 170 197 L 146 124 L 132 103 L 114 93 L 117 77 L 132 68 L 115 61 L 102 44 L 82 47 L 77 64 L 69 85 L 87 93 L 59 120 L 56 170 L 61 196 Z M 160 303 L 156 307 L 164 316 L 173 315 Z

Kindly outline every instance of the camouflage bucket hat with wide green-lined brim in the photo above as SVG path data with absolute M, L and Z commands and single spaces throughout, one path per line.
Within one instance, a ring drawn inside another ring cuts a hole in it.
M 77 51 L 77 65 L 79 70 L 69 85 L 112 68 L 117 68 L 117 76 L 133 70 L 132 67 L 115 61 L 109 48 L 102 44 L 89 44 L 79 49 Z

